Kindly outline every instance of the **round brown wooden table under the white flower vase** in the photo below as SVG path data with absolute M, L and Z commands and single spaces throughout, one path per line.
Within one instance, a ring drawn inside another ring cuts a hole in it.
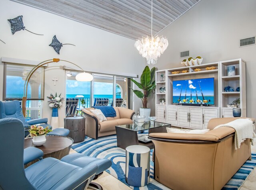
M 70 148 L 73 144 L 73 139 L 69 137 L 61 137 L 61 136 L 46 136 L 46 142 L 44 145 L 37 147 L 32 142 L 33 138 L 24 139 L 24 149 L 28 147 L 36 147 L 44 152 L 43 158 L 56 158 L 62 159 L 64 156 L 69 154 Z M 25 165 L 24 167 L 28 167 L 38 160 L 32 161 Z

